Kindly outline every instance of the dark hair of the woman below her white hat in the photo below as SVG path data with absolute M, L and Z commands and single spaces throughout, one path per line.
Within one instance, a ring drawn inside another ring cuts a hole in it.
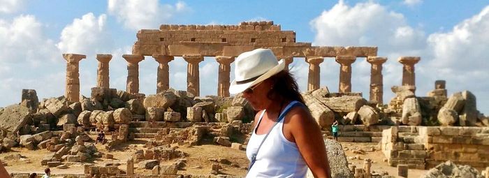
M 267 98 L 272 101 L 299 101 L 305 105 L 304 98 L 300 95 L 299 87 L 292 73 L 280 71 L 268 80 L 274 82 L 272 89 L 268 91 Z

